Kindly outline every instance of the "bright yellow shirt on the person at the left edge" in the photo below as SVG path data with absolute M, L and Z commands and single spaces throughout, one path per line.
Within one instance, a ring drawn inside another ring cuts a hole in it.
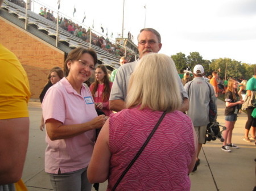
M 29 99 L 26 71 L 15 54 L 0 44 L 0 120 L 28 117 Z

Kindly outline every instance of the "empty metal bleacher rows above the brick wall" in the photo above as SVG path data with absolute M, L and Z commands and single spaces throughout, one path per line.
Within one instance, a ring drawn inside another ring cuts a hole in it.
M 22 20 L 22 22 L 24 22 L 26 19 L 26 9 L 18 5 L 15 5 L 14 3 L 5 1 L 5 3 L 3 3 L 1 8 L 7 10 L 9 14 L 15 16 L 15 18 Z M 56 40 L 56 36 L 57 36 L 56 23 L 30 10 L 27 10 L 27 16 L 28 16 L 28 20 L 27 20 L 28 26 L 31 26 L 37 29 L 38 31 L 44 33 L 45 35 L 52 37 L 53 40 Z M 89 43 L 86 43 L 85 41 L 81 40 L 79 37 L 72 35 L 71 33 L 69 33 L 68 31 L 66 31 L 61 27 L 59 27 L 58 30 L 59 30 L 58 32 L 59 43 L 65 46 L 68 46 L 69 52 L 78 46 L 84 46 L 86 48 L 89 48 Z M 115 66 L 119 65 L 119 58 L 115 57 L 113 54 L 110 54 L 106 50 L 102 50 L 100 47 L 93 44 L 91 44 L 91 48 L 95 49 L 97 52 L 98 63 L 103 63 L 106 66 L 113 67 L 113 69 L 115 68 Z M 66 53 L 69 53 L 67 52 L 67 49 L 63 51 Z M 110 67 L 108 67 L 108 69 L 110 69 Z

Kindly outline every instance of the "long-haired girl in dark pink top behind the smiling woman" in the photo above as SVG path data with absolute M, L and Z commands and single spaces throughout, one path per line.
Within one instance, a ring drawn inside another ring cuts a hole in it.
M 96 109 L 101 109 L 106 116 L 112 111 L 109 110 L 109 95 L 112 88 L 112 82 L 109 81 L 107 69 L 104 65 L 100 65 L 95 71 L 95 81 L 90 86 Z

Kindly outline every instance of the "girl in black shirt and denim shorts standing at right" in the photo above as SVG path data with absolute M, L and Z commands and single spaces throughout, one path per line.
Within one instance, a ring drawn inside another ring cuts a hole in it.
M 243 104 L 243 100 L 239 99 L 238 91 L 238 82 L 236 79 L 229 79 L 228 87 L 225 94 L 225 126 L 226 130 L 223 131 L 224 142 L 221 147 L 223 151 L 231 152 L 231 148 L 239 148 L 238 146 L 232 143 L 232 132 L 234 129 L 234 124 L 237 121 L 238 105 Z M 238 101 L 239 100 L 239 101 Z

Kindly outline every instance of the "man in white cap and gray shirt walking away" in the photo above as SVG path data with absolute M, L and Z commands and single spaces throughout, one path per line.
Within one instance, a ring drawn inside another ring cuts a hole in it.
M 189 109 L 188 116 L 191 118 L 197 137 L 198 150 L 196 156 L 196 165 L 193 171 L 196 171 L 200 160 L 198 158 L 202 145 L 205 143 L 207 125 L 209 124 L 209 103 L 210 100 L 216 105 L 216 96 L 213 87 L 204 79 L 204 67 L 196 65 L 193 69 L 194 79 L 185 84 L 184 88 L 188 92 Z

